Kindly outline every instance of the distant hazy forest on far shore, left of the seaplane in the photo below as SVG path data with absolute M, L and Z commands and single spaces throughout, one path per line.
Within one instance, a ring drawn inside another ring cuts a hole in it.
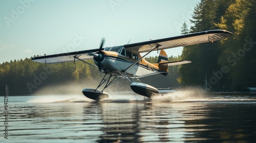
M 10 94 L 32 94 L 47 84 L 79 82 L 81 79 L 90 81 L 99 76 L 97 68 L 83 62 L 42 64 L 33 62 L 31 58 L 0 64 L 0 85 L 8 85 Z M 92 60 L 88 62 L 93 63 Z

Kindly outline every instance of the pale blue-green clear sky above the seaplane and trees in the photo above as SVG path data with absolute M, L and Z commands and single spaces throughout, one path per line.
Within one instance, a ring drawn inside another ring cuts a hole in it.
M 181 35 L 200 0 L 1 0 L 0 63 Z M 178 56 L 182 47 L 166 50 Z M 150 56 L 158 56 L 152 53 Z M 185 59 L 184 59 L 185 60 Z

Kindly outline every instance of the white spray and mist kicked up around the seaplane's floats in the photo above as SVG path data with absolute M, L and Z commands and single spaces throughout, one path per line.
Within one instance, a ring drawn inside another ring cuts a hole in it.
M 82 94 L 84 86 L 88 88 L 97 87 L 96 82 L 86 82 L 85 85 L 76 82 L 65 82 L 60 84 L 51 84 L 38 90 L 35 94 L 41 96 L 33 96 L 32 103 L 54 103 L 54 102 L 95 102 Z M 207 92 L 201 87 L 182 87 L 174 90 L 173 92 L 159 94 L 147 100 L 143 96 L 139 96 L 130 91 L 119 91 L 118 88 L 110 86 L 105 90 L 109 94 L 109 98 L 100 102 L 256 102 L 256 93 L 248 96 L 240 94 L 234 96 L 224 92 L 223 94 L 216 94 Z M 243 101 L 244 100 L 244 101 Z

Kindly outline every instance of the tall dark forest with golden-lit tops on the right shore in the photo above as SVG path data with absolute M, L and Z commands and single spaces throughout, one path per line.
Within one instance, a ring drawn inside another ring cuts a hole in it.
M 256 1 L 201 0 L 194 8 L 194 26 L 183 23 L 182 34 L 223 29 L 234 35 L 222 41 L 185 46 L 179 82 L 211 90 L 256 87 Z

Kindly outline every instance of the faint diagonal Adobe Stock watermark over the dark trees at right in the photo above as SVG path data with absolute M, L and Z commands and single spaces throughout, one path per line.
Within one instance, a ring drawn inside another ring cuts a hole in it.
M 246 52 L 251 50 L 254 44 L 256 44 L 256 42 L 253 42 L 251 38 L 250 40 L 245 39 L 243 48 L 239 49 L 236 53 L 232 53 L 231 56 L 228 56 L 227 62 L 230 63 L 231 66 L 236 65 L 237 61 L 241 60 L 241 58 L 245 56 Z M 223 78 L 223 74 L 228 73 L 228 71 L 228 66 L 222 65 L 220 70 L 212 71 L 212 74 L 214 76 L 210 77 L 209 81 L 204 80 L 205 84 L 211 89 L 212 86 L 218 83 L 218 80 L 221 80 Z

